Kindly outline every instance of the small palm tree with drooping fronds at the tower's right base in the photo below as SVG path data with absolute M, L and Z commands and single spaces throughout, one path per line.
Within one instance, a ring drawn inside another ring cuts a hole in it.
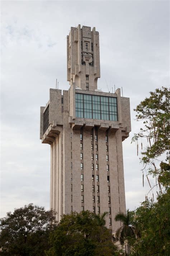
M 120 241 L 121 245 L 123 245 L 127 237 L 134 237 L 135 235 L 135 228 L 131 219 L 131 212 L 129 209 L 127 210 L 126 214 L 120 212 L 115 216 L 114 219 L 115 221 L 122 222 L 122 226 L 118 228 L 115 233 L 115 238 Z

